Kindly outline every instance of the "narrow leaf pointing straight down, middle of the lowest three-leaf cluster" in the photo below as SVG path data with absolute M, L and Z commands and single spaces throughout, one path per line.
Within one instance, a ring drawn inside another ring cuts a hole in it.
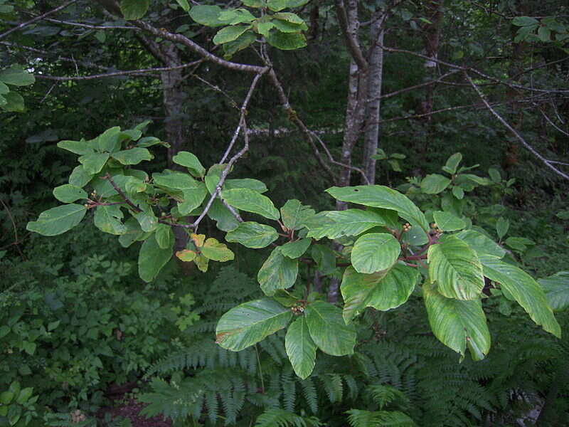
M 285 349 L 294 373 L 306 379 L 316 363 L 316 344 L 310 337 L 307 320 L 300 316 L 291 323 L 285 337 Z

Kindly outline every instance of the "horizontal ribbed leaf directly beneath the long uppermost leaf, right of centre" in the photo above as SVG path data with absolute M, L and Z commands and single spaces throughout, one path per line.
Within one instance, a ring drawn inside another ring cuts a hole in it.
M 326 218 L 334 223 L 324 224 L 317 228 L 311 228 L 308 235 L 320 239 L 339 238 L 341 236 L 357 236 L 376 226 L 385 226 L 385 218 L 374 211 L 362 211 L 361 209 L 346 209 L 345 211 L 331 211 Z

